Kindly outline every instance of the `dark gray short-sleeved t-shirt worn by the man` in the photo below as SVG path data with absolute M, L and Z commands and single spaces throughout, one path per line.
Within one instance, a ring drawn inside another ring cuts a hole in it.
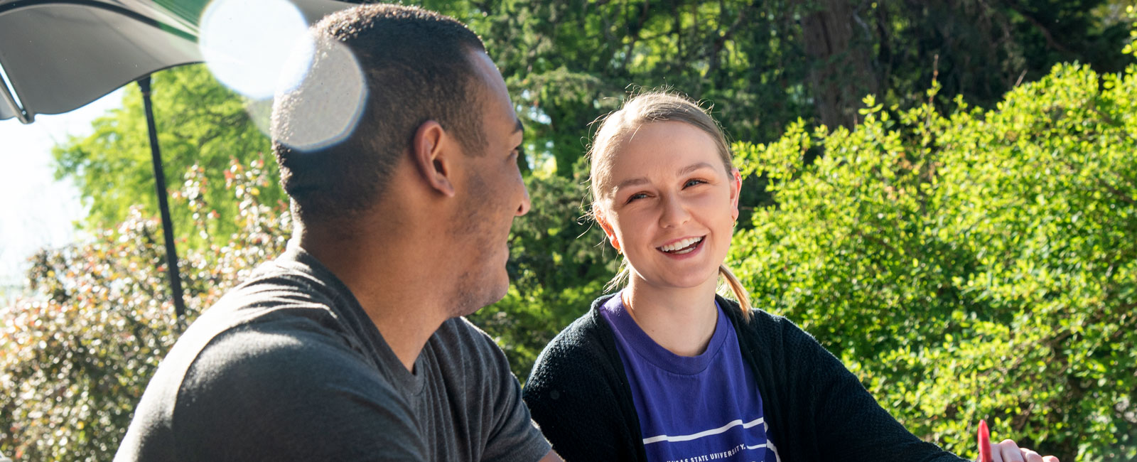
M 115 461 L 536 461 L 548 453 L 505 355 L 465 319 L 442 323 L 414 371 L 342 282 L 290 248 L 177 340 Z

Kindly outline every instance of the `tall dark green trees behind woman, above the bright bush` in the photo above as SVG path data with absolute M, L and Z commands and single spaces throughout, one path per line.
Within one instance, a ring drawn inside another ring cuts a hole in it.
M 584 127 L 629 84 L 712 101 L 728 133 L 766 142 L 798 117 L 852 126 L 868 93 L 918 106 L 937 73 L 939 104 L 989 107 L 1055 63 L 1122 68 L 1126 25 L 1094 13 L 1118 1 L 1024 3 L 485 0 L 470 19 L 524 109 L 530 154 L 571 178 Z

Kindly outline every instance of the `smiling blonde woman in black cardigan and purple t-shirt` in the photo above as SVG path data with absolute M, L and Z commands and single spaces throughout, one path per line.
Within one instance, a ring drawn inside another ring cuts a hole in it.
M 561 332 L 525 386 L 565 460 L 960 460 L 905 430 L 810 335 L 750 307 L 723 265 L 741 179 L 700 107 L 634 97 L 589 156 L 591 214 L 624 255 L 613 286 L 626 286 Z M 738 302 L 715 294 L 720 278 Z M 993 448 L 996 461 L 1044 460 L 1010 440 Z

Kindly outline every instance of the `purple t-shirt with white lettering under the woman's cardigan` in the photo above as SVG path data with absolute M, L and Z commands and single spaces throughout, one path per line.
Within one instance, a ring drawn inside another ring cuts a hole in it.
M 698 356 L 677 355 L 652 340 L 619 294 L 600 308 L 615 331 L 649 461 L 779 461 L 766 439 L 754 372 L 742 362 L 730 320 L 715 307 L 714 335 Z

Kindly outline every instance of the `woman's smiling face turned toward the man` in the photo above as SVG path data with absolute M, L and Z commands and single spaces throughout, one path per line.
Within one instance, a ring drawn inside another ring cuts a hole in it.
M 683 122 L 626 137 L 608 155 L 597 221 L 626 256 L 632 283 L 716 283 L 738 216 L 738 171 L 728 173 L 714 139 Z

